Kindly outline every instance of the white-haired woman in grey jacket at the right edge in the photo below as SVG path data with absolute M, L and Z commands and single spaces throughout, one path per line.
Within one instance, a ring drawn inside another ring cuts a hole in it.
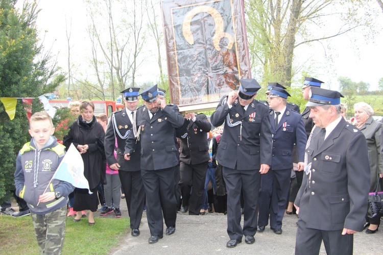
M 382 123 L 372 118 L 374 110 L 364 102 L 354 105 L 355 126 L 365 135 L 368 146 L 368 157 L 370 160 L 371 182 L 370 192 L 375 191 L 378 176 L 383 177 L 383 158 L 380 156 L 380 138 Z M 380 218 L 369 218 L 366 216 L 367 234 L 374 234 L 379 227 Z

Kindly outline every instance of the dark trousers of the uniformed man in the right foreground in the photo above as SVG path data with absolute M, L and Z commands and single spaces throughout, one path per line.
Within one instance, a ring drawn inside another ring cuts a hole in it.
M 322 231 L 307 228 L 306 222 L 299 219 L 295 242 L 296 255 L 317 255 L 321 248 L 322 240 L 326 253 L 352 254 L 354 235 L 342 236 L 342 230 Z

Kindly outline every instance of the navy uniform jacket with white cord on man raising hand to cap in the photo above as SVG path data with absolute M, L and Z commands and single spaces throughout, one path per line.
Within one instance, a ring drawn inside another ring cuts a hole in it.
M 269 107 L 253 99 L 245 113 L 238 99 L 230 109 L 226 103 L 227 96 L 221 98 L 210 121 L 213 126 L 225 122 L 224 131 L 218 146 L 217 161 L 225 167 L 238 170 L 259 169 L 261 164 L 271 165 L 271 124 Z M 229 126 L 226 118 L 236 126 Z

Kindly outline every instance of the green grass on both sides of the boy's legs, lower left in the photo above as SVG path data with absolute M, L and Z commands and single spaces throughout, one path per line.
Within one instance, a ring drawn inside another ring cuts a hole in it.
M 130 234 L 129 218 L 95 218 L 89 226 L 87 218 L 74 222 L 67 217 L 63 254 L 108 254 Z M 0 254 L 39 254 L 32 218 L 0 216 Z

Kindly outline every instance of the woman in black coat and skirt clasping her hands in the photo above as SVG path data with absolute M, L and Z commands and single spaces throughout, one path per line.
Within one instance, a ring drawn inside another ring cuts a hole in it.
M 88 180 L 90 191 L 75 189 L 75 202 L 73 210 L 76 211 L 75 222 L 80 221 L 81 211 L 90 210 L 88 224 L 94 225 L 93 212 L 97 211 L 97 186 L 101 181 L 102 159 L 105 158 L 104 138 L 105 131 L 93 115 L 94 105 L 90 101 L 80 104 L 80 115 L 69 127 L 69 133 L 63 139 L 66 149 L 73 143 L 80 151 L 84 162 L 84 176 Z M 105 171 L 105 168 L 104 168 Z

